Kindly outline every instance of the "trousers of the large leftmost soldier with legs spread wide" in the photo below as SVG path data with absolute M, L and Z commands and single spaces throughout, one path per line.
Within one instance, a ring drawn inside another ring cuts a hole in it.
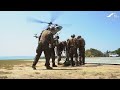
M 45 55 L 45 59 L 46 59 L 46 62 L 45 62 L 45 66 L 49 66 L 50 65 L 50 49 L 49 49 L 49 46 L 46 44 L 42 44 L 42 43 L 39 43 L 38 44 L 38 47 L 36 49 L 36 56 L 34 58 L 34 61 L 33 61 L 33 66 L 36 66 L 36 64 L 38 63 L 38 60 L 42 54 L 42 51 L 44 51 L 44 55 Z

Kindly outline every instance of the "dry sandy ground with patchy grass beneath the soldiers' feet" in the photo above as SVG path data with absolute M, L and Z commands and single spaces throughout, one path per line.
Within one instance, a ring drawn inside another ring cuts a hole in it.
M 44 60 L 31 68 L 33 60 L 0 60 L 0 79 L 120 79 L 120 65 L 86 64 L 53 67 L 47 70 Z

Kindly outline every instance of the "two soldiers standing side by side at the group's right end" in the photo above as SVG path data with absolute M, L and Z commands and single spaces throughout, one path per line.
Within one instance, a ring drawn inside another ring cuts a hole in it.
M 64 64 L 65 66 L 67 66 L 66 64 L 71 64 L 72 66 L 85 64 L 85 40 L 81 36 L 76 38 L 75 34 L 73 34 L 71 35 L 71 38 L 67 40 L 66 61 Z

